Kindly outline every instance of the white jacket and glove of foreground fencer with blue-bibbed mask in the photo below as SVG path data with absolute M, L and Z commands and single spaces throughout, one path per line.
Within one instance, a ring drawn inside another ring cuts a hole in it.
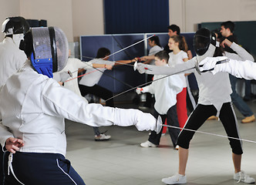
M 24 140 L 20 152 L 66 155 L 64 119 L 89 126 L 131 126 L 155 130 L 156 119 L 137 109 L 87 104 L 83 97 L 32 69 L 30 61 L 0 88 L 0 141 Z

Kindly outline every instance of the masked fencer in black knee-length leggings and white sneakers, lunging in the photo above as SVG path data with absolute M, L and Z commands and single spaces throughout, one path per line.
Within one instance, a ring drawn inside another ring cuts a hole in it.
M 170 75 L 180 72 L 183 69 L 190 69 L 187 72 L 195 72 L 197 61 L 200 62 L 207 56 L 223 55 L 217 48 L 216 35 L 208 29 L 199 29 L 194 35 L 194 49 L 197 56 L 184 62 L 182 65 L 164 68 L 160 66 L 148 66 L 138 64 L 139 72 L 150 74 Z M 199 99 L 196 109 L 190 114 L 184 128 L 198 130 L 210 116 L 219 116 L 227 136 L 240 138 L 237 130 L 237 119 L 231 104 L 231 84 L 227 72 L 218 72 L 213 75 L 211 72 L 204 72 L 201 75 L 195 72 L 199 87 Z M 188 149 L 194 132 L 182 130 L 177 140 L 179 148 L 180 167 L 176 175 L 163 178 L 162 182 L 167 184 L 187 183 L 185 175 Z M 229 139 L 232 149 L 232 160 L 234 163 L 234 180 L 244 183 L 254 183 L 255 180 L 241 170 L 241 155 L 243 153 L 241 141 Z

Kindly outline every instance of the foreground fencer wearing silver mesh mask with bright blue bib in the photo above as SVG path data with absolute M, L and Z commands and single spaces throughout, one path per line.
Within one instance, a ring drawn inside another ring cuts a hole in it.
M 52 79 L 52 72 L 63 69 L 68 58 L 62 30 L 32 28 L 21 45 L 28 60 L 0 89 L 5 184 L 85 184 L 65 158 L 64 119 L 156 130 L 156 119 L 149 113 L 87 104 Z

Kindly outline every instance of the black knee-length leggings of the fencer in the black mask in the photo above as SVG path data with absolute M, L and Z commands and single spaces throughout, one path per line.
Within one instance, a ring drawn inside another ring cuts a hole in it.
M 185 129 L 198 130 L 210 116 L 215 116 L 217 109 L 213 105 L 205 106 L 198 104 L 196 109 L 190 114 Z M 237 119 L 231 103 L 224 103 L 220 112 L 221 123 L 227 133 L 227 136 L 240 138 L 237 130 Z M 177 145 L 184 149 L 189 148 L 190 140 L 192 140 L 194 132 L 182 130 L 177 140 Z M 228 139 L 232 148 L 232 152 L 237 155 L 243 153 L 241 140 Z

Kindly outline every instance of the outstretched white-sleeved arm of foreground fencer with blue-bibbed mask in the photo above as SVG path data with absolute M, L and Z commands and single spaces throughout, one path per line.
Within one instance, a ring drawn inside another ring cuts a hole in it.
M 119 109 L 87 104 L 83 97 L 59 86 L 54 80 L 47 82 L 42 92 L 43 112 L 61 116 L 89 126 L 136 126 L 138 130 L 155 130 L 156 119 L 138 109 Z

